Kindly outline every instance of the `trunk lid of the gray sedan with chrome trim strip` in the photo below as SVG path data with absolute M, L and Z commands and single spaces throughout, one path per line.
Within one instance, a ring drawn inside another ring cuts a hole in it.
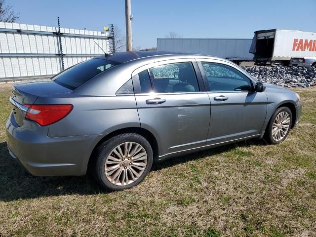
M 13 105 L 13 115 L 18 126 L 23 125 L 27 107 L 24 104 L 34 104 L 41 96 L 70 93 L 71 89 L 61 86 L 50 79 L 19 82 L 13 85 L 10 101 Z

